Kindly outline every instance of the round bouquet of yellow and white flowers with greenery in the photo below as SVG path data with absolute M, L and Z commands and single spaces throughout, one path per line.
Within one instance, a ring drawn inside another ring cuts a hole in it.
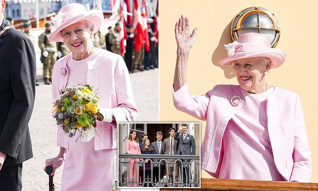
M 66 86 L 59 90 L 59 97 L 54 99 L 53 117 L 69 137 L 74 136 L 76 131 L 79 131 L 78 137 L 83 137 L 92 126 L 96 127 L 96 120 L 103 119 L 98 112 L 98 103 L 99 97 L 89 85 Z

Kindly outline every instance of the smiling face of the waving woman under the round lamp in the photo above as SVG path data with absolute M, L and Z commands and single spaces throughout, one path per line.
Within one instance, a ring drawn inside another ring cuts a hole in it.
M 269 71 L 270 59 L 252 57 L 234 60 L 231 63 L 239 85 L 249 93 L 261 93 L 266 90 L 265 71 Z

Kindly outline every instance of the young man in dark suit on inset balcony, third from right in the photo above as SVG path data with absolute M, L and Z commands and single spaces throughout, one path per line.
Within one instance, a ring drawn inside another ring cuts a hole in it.
M 156 141 L 151 142 L 151 146 L 153 147 L 153 154 L 162 154 L 162 132 L 157 131 L 155 133 Z M 164 173 L 164 161 L 161 160 L 160 162 L 160 179 L 163 178 Z M 153 178 L 156 181 L 159 181 L 159 167 L 153 167 Z M 154 179 L 153 179 L 154 181 Z

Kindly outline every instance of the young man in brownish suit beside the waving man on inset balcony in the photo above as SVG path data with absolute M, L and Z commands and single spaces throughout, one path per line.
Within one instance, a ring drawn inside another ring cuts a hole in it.
M 174 134 L 175 134 L 175 128 L 170 127 L 169 128 L 169 137 L 165 138 L 162 143 L 162 153 L 163 154 L 176 154 L 177 152 L 177 146 L 178 146 L 178 141 L 174 139 Z M 174 162 L 175 159 L 167 159 L 167 162 Z M 168 165 L 168 164 L 167 164 Z M 178 165 L 175 163 L 175 177 L 177 178 L 179 176 L 179 170 L 178 170 Z M 168 166 L 168 171 L 167 175 L 169 176 L 169 181 L 172 181 L 172 174 L 174 167 Z

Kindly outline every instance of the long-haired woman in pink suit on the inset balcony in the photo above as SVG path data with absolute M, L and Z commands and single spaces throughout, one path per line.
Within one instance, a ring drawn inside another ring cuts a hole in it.
M 126 140 L 126 154 L 141 154 L 137 132 L 135 130 L 130 130 L 129 132 L 129 138 Z M 135 161 L 137 162 L 139 159 L 128 158 L 127 161 L 128 160 L 130 160 L 128 168 L 128 181 L 139 182 L 139 166 L 135 163 Z M 131 183 L 129 183 L 128 186 L 131 186 Z M 137 186 L 137 184 L 133 183 L 133 186 Z

